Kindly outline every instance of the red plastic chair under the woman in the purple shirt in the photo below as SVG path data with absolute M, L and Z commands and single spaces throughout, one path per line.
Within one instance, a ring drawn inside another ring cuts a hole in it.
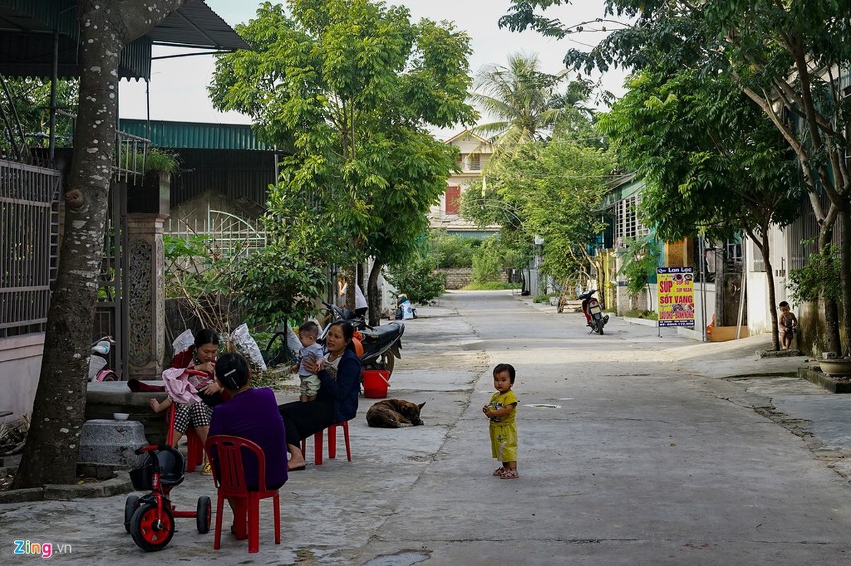
M 215 448 L 215 450 L 210 450 Z M 221 546 L 221 517 L 225 500 L 233 501 L 237 541 L 246 538 L 248 527 L 248 552 L 260 549 L 260 500 L 272 498 L 275 506 L 275 544 L 281 544 L 281 506 L 278 490 L 249 491 L 243 470 L 243 448 L 254 452 L 260 475 L 258 484 L 266 486 L 266 456 L 257 444 L 238 436 L 216 434 L 207 439 L 206 449 L 213 467 L 213 481 L 219 490 L 215 511 L 215 541 L 213 548 Z M 217 469 L 218 468 L 218 469 Z

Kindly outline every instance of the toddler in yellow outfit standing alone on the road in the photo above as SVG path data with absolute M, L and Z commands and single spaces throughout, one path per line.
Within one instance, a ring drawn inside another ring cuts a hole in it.
M 511 391 L 514 385 L 514 366 L 498 364 L 494 367 L 494 393 L 482 412 L 490 420 L 490 450 L 502 466 L 494 470 L 494 476 L 502 479 L 517 479 L 517 397 Z

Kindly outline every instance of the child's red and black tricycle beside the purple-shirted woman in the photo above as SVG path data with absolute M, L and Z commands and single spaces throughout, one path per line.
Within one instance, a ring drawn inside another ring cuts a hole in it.
M 203 371 L 186 371 L 206 375 Z M 151 444 L 135 450 L 136 454 L 146 454 L 146 458 L 140 467 L 130 471 L 134 489 L 150 490 L 150 493 L 128 496 L 124 502 L 124 529 L 146 552 L 168 546 L 174 536 L 175 518 L 195 518 L 198 533 L 202 535 L 209 532 L 213 518 L 213 504 L 207 495 L 198 497 L 195 511 L 178 511 L 171 501 L 171 490 L 183 482 L 186 471 L 183 455 L 172 446 L 176 407 L 172 404 L 169 408 L 168 444 Z

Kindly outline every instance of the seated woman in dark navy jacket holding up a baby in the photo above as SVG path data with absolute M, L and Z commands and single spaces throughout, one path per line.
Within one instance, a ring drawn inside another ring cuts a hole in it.
M 361 390 L 361 360 L 355 354 L 351 338 L 355 330 L 345 320 L 334 322 L 325 337 L 328 359 L 317 359 L 302 363 L 311 373 L 319 376 L 322 386 L 317 398 L 304 403 L 294 401 L 280 405 L 287 430 L 289 471 L 306 467 L 305 455 L 301 452 L 301 439 L 330 427 L 335 422 L 351 421 L 357 413 L 357 394 Z

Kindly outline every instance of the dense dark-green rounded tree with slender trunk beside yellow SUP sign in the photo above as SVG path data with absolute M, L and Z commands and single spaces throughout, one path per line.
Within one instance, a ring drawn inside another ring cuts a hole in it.
M 698 233 L 727 240 L 743 232 L 774 273 L 768 229 L 795 218 L 805 190 L 774 126 L 723 76 L 691 69 L 645 70 L 597 123 L 620 161 L 647 184 L 642 215 L 668 241 Z M 777 334 L 774 277 L 768 312 Z

